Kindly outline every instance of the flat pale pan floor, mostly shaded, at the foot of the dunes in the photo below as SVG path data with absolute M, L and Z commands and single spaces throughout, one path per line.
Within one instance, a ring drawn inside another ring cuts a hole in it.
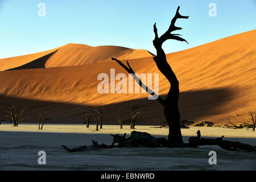
M 254 132 L 249 129 L 217 127 L 191 127 L 181 129 L 184 142 L 200 129 L 202 137 L 221 137 L 256 145 Z M 167 137 L 168 129 L 138 126 L 136 131 L 146 131 L 154 137 Z M 112 148 L 69 153 L 68 147 L 89 146 L 92 139 L 99 143 L 112 143 L 109 134 L 127 133 L 129 126 L 105 125 L 95 131 L 95 125 L 44 125 L 42 131 L 36 124 L 0 125 L 0 170 L 255 170 L 254 152 L 226 151 L 218 146 L 199 148 Z M 38 152 L 46 152 L 46 165 L 38 164 Z M 210 165 L 209 151 L 216 151 L 217 164 Z M 139 163 L 138 163 L 139 161 Z

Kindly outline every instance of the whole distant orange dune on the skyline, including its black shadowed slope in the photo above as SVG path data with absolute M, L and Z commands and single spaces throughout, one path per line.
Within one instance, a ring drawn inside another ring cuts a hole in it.
M 110 61 L 112 56 L 121 60 L 137 59 L 151 56 L 151 53 L 118 46 L 90 47 L 83 44 L 67 44 L 49 51 L 0 59 L 0 71 L 104 63 Z

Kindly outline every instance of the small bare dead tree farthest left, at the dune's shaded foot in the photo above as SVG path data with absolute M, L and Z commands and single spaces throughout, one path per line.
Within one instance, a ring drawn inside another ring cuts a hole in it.
M 26 109 L 17 109 L 16 106 L 9 106 L 6 107 L 7 115 L 6 117 L 9 117 L 11 121 L 13 121 L 13 126 L 19 125 L 20 122 L 24 121 L 25 118 L 23 118 L 24 111 Z

